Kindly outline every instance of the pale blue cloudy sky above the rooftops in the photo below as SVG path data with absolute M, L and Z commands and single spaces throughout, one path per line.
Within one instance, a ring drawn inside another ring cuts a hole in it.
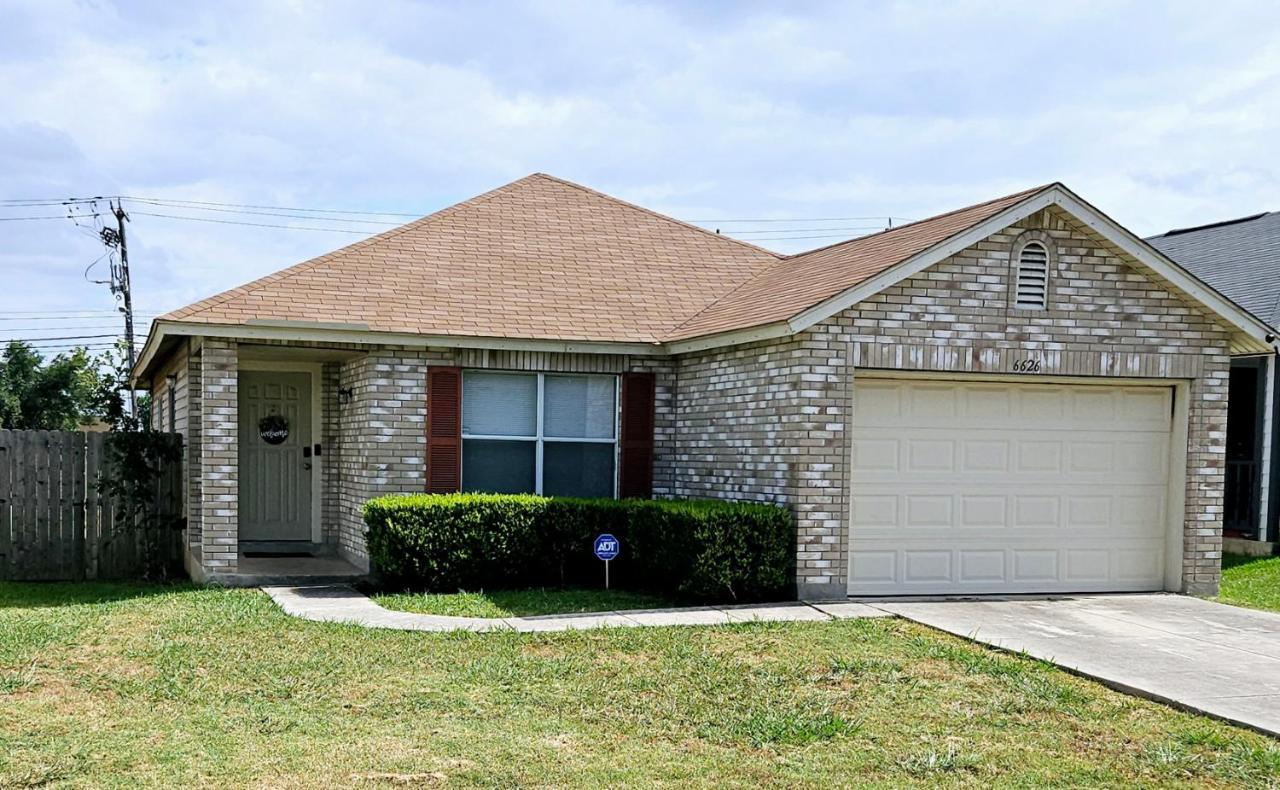
M 0 337 L 114 330 L 44 198 L 141 198 L 147 316 L 538 170 L 797 251 L 1050 181 L 1280 210 L 1277 141 L 1274 1 L 0 0 L 0 218 L 55 218 L 0 222 Z

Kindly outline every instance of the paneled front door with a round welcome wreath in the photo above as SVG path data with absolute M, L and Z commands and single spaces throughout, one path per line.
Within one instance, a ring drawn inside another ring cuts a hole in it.
M 239 538 L 311 540 L 311 374 L 239 374 Z

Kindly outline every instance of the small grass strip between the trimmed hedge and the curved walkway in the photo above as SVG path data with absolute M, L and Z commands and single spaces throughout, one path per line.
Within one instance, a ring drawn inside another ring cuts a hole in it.
M 659 595 L 627 590 L 534 589 L 490 593 L 378 593 L 374 601 L 388 609 L 449 615 L 453 617 L 520 617 L 525 615 L 577 615 L 617 609 L 655 609 L 676 606 Z

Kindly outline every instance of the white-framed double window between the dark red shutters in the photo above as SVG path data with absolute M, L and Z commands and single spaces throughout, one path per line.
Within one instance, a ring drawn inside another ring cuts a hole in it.
M 462 374 L 462 490 L 612 497 L 618 380 Z

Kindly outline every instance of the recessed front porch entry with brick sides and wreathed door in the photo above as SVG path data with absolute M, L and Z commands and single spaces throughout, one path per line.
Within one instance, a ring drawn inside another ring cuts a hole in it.
M 192 579 L 365 577 L 364 502 L 422 489 L 422 420 L 403 412 L 415 402 L 425 412 L 425 362 L 383 347 L 212 337 L 184 351 Z

